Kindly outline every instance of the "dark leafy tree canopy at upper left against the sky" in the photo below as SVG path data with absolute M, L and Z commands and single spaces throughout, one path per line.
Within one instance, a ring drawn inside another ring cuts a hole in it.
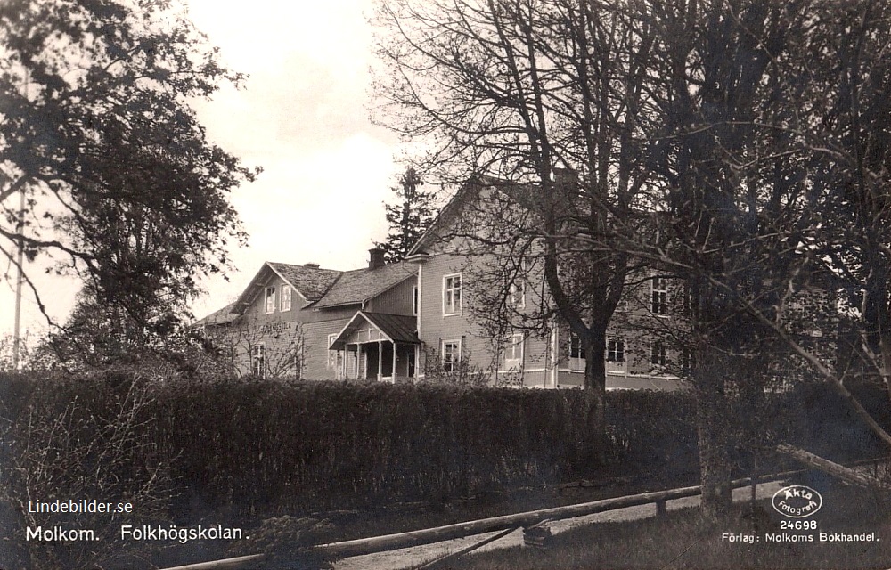
M 242 78 L 167 0 L 5 2 L 0 255 L 16 265 L 21 242 L 29 261 L 49 256 L 141 327 L 149 307 L 184 307 L 193 276 L 245 239 L 227 194 L 257 174 L 189 102 Z

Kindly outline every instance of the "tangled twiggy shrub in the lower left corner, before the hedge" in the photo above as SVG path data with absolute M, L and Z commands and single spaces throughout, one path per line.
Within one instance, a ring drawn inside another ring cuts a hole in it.
M 4 500 L 20 517 L 15 531 L 34 568 L 101 566 L 145 547 L 119 541 L 127 524 L 163 520 L 170 498 L 168 456 L 152 440 L 151 386 L 115 375 L 8 376 L 4 393 Z M 45 513 L 29 501 L 130 502 L 129 514 Z M 94 541 L 26 541 L 27 529 L 91 529 Z M 144 543 L 143 543 L 144 544 Z

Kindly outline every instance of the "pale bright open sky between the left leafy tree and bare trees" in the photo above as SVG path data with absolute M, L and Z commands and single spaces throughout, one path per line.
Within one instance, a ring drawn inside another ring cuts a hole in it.
M 264 261 L 364 266 L 373 241 L 386 236 L 383 202 L 403 168 L 394 162 L 396 135 L 368 118 L 373 0 L 184 1 L 223 63 L 249 75 L 241 90 L 196 102 L 200 121 L 211 141 L 263 168 L 231 195 L 248 247 L 231 250 L 229 281 L 203 281 L 207 292 L 192 312 L 200 318 L 233 301 Z M 12 281 L 0 283 L 0 336 L 13 330 Z M 37 286 L 63 322 L 78 282 L 41 278 Z M 23 332 L 45 328 L 26 291 Z

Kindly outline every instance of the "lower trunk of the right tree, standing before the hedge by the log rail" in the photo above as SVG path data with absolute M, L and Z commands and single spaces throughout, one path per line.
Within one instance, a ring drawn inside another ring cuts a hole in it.
M 715 350 L 699 351 L 695 373 L 697 433 L 699 435 L 699 476 L 702 485 L 702 513 L 710 520 L 727 515 L 732 505 L 731 465 L 727 449 L 727 415 L 721 362 Z

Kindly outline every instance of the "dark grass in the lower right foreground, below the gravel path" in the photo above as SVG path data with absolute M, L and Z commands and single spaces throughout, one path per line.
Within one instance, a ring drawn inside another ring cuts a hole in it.
M 887 568 L 891 566 L 891 497 L 832 486 L 813 517 L 817 530 L 783 530 L 769 501 L 737 505 L 725 522 L 708 524 L 698 509 L 666 517 L 591 525 L 560 533 L 545 550 L 511 548 L 460 558 L 462 570 L 590 570 L 593 568 L 743 569 Z M 878 542 L 820 542 L 819 533 L 876 533 Z M 756 537 L 728 542 L 723 533 Z M 768 542 L 767 534 L 813 535 L 813 542 Z

